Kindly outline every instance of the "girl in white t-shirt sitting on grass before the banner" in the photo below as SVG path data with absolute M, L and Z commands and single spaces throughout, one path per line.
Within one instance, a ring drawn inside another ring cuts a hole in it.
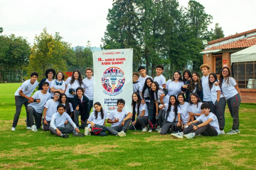
M 93 107 L 95 110 L 87 120 L 88 127 L 85 128 L 85 135 L 107 136 L 105 124 L 106 119 L 108 119 L 108 113 L 106 110 L 103 110 L 100 102 L 94 103 Z

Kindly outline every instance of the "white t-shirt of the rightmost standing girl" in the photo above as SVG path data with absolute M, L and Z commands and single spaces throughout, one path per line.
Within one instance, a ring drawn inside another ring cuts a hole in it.
M 225 79 L 222 80 L 221 89 L 222 89 L 223 95 L 226 97 L 227 100 L 238 93 L 238 91 L 234 87 L 235 85 L 236 85 L 236 80 L 232 77 L 229 77 L 229 84 L 227 84 L 227 81 L 225 81 Z

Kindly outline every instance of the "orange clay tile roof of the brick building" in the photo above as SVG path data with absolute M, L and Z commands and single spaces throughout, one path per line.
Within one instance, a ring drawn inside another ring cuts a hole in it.
M 240 34 L 242 34 L 242 33 L 240 33 Z M 230 43 L 227 43 L 227 44 L 223 44 L 223 45 L 219 45 L 219 46 L 213 46 L 211 48 L 204 49 L 202 51 L 208 51 L 208 50 L 214 50 L 214 49 L 223 50 L 223 49 L 247 48 L 247 47 L 250 47 L 250 46 L 255 45 L 255 44 L 256 44 L 256 36 L 252 36 L 252 37 L 246 37 L 245 39 L 241 39 L 241 40 L 238 40 L 238 41 L 230 42 Z

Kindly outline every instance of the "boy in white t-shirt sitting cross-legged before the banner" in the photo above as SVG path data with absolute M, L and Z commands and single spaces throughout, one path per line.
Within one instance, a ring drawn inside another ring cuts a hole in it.
M 123 99 L 117 100 L 117 109 L 112 111 L 109 116 L 107 123 L 111 124 L 111 127 L 107 127 L 110 134 L 124 137 L 130 124 L 132 113 L 124 110 L 125 101 Z

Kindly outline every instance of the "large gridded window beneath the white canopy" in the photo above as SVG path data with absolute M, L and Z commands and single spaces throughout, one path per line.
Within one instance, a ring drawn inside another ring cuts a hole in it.
M 256 89 L 256 61 L 233 63 L 233 74 L 239 88 Z

